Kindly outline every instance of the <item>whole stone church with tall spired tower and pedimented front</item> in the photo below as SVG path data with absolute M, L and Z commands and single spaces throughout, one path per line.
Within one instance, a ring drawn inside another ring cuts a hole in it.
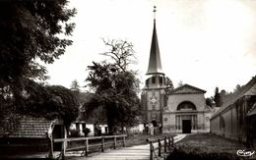
M 144 122 L 153 125 L 155 133 L 210 132 L 212 109 L 206 105 L 204 89 L 183 84 L 170 92 L 166 91 L 156 26 L 155 16 L 146 73 L 150 78 L 146 80 L 141 95 Z

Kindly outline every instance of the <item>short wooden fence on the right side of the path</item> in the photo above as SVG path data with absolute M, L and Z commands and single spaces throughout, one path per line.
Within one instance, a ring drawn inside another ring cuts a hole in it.
M 173 136 L 164 136 L 157 139 L 149 138 L 147 141 L 150 142 L 150 160 L 154 159 L 154 154 L 155 157 L 162 157 L 162 154 L 166 155 L 174 145 Z M 157 146 L 154 146 L 154 143 L 158 143 Z M 156 152 L 158 152 L 158 154 Z

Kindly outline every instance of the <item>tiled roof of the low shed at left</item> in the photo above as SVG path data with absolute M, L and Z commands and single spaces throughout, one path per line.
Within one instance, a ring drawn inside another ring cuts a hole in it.
M 44 118 L 23 117 L 17 121 L 3 120 L 0 137 L 46 137 L 53 121 Z

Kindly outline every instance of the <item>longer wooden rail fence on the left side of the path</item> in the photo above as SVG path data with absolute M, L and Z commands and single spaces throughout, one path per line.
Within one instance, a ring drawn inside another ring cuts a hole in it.
M 105 136 L 91 136 L 91 137 L 71 137 L 71 138 L 55 138 L 50 145 L 49 157 L 52 158 L 54 151 L 54 143 L 61 143 L 61 156 L 64 159 L 68 151 L 83 151 L 81 155 L 89 155 L 90 152 L 102 151 L 108 148 L 116 149 L 119 146 L 126 146 L 126 134 L 121 135 L 105 135 Z M 73 144 L 72 144 L 73 143 Z M 75 144 L 75 145 L 74 145 Z

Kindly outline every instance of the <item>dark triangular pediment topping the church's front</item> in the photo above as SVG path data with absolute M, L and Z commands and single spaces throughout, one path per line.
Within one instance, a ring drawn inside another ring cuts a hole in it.
M 187 93 L 206 93 L 206 90 L 203 90 L 198 87 L 185 83 L 179 87 L 176 87 L 170 92 L 170 94 L 187 94 Z

